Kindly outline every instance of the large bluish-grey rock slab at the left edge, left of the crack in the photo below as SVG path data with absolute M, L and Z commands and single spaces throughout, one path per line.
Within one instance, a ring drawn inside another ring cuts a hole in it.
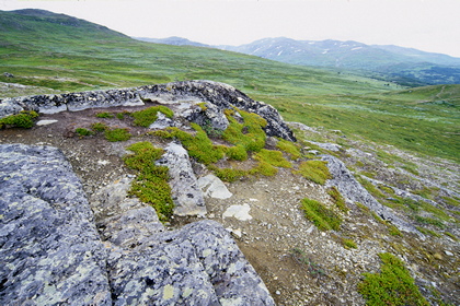
M 79 178 L 51 146 L 0 145 L 0 305 L 112 305 Z

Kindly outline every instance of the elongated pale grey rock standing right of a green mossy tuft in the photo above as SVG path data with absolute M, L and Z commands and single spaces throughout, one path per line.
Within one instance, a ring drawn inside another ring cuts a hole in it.
M 193 172 L 187 151 L 180 144 L 171 142 L 157 165 L 166 166 L 174 202 L 173 213 L 176 215 L 206 214 L 205 200 Z

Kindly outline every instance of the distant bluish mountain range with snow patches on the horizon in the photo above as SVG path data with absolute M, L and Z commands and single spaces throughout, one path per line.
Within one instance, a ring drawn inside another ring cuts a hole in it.
M 353 70 L 402 85 L 460 84 L 460 58 L 398 46 L 366 45 L 340 40 L 264 38 L 241 46 L 209 46 L 181 37 L 137 38 L 175 46 L 210 47 L 253 55 L 276 61 Z

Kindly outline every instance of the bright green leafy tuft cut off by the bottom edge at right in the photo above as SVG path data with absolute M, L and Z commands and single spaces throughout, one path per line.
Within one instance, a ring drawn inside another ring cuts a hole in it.
M 388 252 L 379 257 L 381 272 L 365 273 L 365 280 L 358 284 L 366 305 L 429 305 L 401 259 Z

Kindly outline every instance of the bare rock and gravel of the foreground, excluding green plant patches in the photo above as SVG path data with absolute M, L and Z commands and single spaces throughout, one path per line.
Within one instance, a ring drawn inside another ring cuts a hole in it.
M 94 122 L 96 109 L 149 105 L 168 106 L 174 117 L 159 116 L 147 129 L 117 121 L 135 134 L 128 141 L 74 134 L 77 127 Z M 0 131 L 0 304 L 364 305 L 357 284 L 363 273 L 379 271 L 378 254 L 384 251 L 406 262 L 432 304 L 458 302 L 456 221 L 446 222 L 451 236 L 432 237 L 404 213 L 382 205 L 348 169 L 356 161 L 373 158 L 364 158 L 358 145 L 346 151 L 330 143 L 318 143 L 322 152 L 304 149 L 327 162 L 332 178 L 324 186 L 286 168 L 274 177 L 225 184 L 191 158 L 181 142 L 146 133 L 168 127 L 191 130 L 189 122 L 225 130 L 225 111 L 233 107 L 267 121 L 267 149 L 276 146 L 274 137 L 296 140 L 276 109 L 208 81 L 1 101 L 0 117 L 36 110 L 49 125 Z M 318 132 L 292 126 L 298 133 Z M 128 195 L 135 173 L 122 156 L 129 154 L 129 144 L 146 140 L 165 152 L 157 164 L 168 166 L 171 178 L 175 207 L 168 223 Z M 292 161 L 295 167 L 300 160 Z M 380 166 L 379 173 L 389 172 Z M 392 177 L 399 175 L 392 170 Z M 369 181 L 418 199 L 384 176 Z M 349 212 L 340 231 L 322 232 L 303 216 L 299 202 L 309 197 L 329 203 L 332 187 Z M 441 191 L 458 196 L 450 186 Z M 388 224 L 402 234 L 390 235 Z M 344 238 L 358 247 L 345 248 Z

